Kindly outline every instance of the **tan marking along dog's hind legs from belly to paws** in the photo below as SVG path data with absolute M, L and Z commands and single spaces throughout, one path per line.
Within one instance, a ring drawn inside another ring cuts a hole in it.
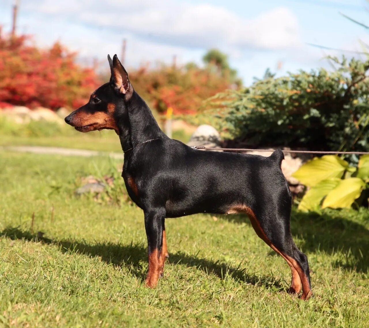
M 254 228 L 256 234 L 264 240 L 264 242 L 269 245 L 270 248 L 272 248 L 275 252 L 277 252 L 280 256 L 283 257 L 283 259 L 287 262 L 287 264 L 290 266 L 291 273 L 292 273 L 292 281 L 291 281 L 291 287 L 289 292 L 290 293 L 300 293 L 301 288 L 303 290 L 303 294 L 301 295 L 301 299 L 307 300 L 312 295 L 311 289 L 309 287 L 309 282 L 307 279 L 307 276 L 301 270 L 301 267 L 299 264 L 290 256 L 280 252 L 277 247 L 275 247 L 272 242 L 269 240 L 269 238 L 265 235 L 264 230 L 261 228 L 259 221 L 256 219 L 254 211 L 252 211 L 251 208 L 249 208 L 246 205 L 235 205 L 232 206 L 230 209 L 228 209 L 228 214 L 237 214 L 237 213 L 246 213 L 251 221 L 251 225 Z

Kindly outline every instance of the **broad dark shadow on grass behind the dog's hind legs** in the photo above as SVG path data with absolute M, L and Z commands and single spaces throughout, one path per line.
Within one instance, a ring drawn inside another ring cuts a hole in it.
M 291 233 L 299 238 L 303 252 L 341 253 L 342 260 L 332 265 L 342 269 L 368 273 L 369 230 L 362 224 L 345 218 L 346 212 L 304 213 L 293 210 Z M 251 223 L 246 215 L 226 215 L 219 218 L 240 224 Z

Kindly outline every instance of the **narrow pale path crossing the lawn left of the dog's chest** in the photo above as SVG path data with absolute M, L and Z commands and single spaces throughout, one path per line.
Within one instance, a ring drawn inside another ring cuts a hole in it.
M 85 149 L 72 149 L 61 147 L 44 147 L 44 146 L 3 146 L 0 150 L 19 151 L 22 153 L 34 153 L 34 154 L 56 154 L 63 156 L 109 156 L 112 158 L 123 159 L 123 153 L 107 153 L 104 151 L 85 150 Z

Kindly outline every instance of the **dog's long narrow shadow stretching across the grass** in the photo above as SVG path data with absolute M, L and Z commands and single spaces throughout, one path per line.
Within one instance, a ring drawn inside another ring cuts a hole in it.
M 145 279 L 146 272 L 142 267 L 142 263 L 147 261 L 147 249 L 142 244 L 131 243 L 123 245 L 121 243 L 104 242 L 89 245 L 87 242 L 49 239 L 44 237 L 42 233 L 35 234 L 29 231 L 22 231 L 19 227 L 8 227 L 4 229 L 0 232 L 0 237 L 57 245 L 63 253 L 78 253 L 89 257 L 100 257 L 106 263 L 130 268 L 131 273 L 141 281 Z M 196 255 L 187 255 L 182 252 L 172 253 L 169 257 L 169 263 L 196 267 L 207 274 L 215 274 L 220 279 L 231 277 L 240 283 L 244 282 L 270 287 L 280 291 L 284 290 L 281 281 L 275 280 L 272 276 L 251 275 L 245 270 L 232 268 L 219 261 L 199 258 Z

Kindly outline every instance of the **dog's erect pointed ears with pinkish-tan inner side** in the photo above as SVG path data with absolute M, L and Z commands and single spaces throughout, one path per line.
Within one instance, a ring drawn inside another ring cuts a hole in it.
M 111 71 L 110 82 L 113 83 L 115 91 L 124 95 L 125 100 L 130 99 L 133 88 L 128 79 L 127 71 L 124 69 L 117 55 L 114 55 L 113 60 L 108 55 L 108 61 Z

